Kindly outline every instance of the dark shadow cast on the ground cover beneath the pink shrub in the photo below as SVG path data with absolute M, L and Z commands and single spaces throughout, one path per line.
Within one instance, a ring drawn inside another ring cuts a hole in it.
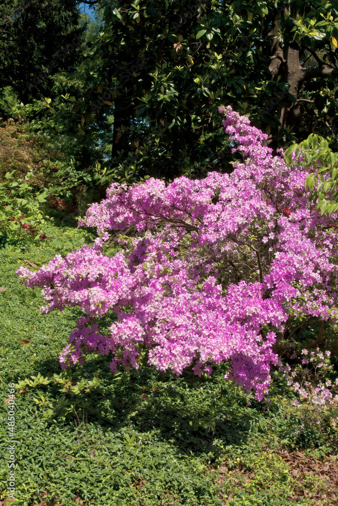
M 36 362 L 36 369 L 43 376 L 61 372 L 57 359 Z M 183 453 L 215 454 L 215 439 L 245 444 L 254 411 L 243 399 L 234 399 L 233 389 L 229 392 L 221 387 L 223 374 L 216 369 L 211 376 L 199 378 L 185 371 L 177 377 L 147 365 L 115 375 L 108 360 L 90 357 L 84 366 L 66 375 L 73 384 L 98 376 L 99 387 L 80 395 L 67 392 L 66 397 L 77 403 L 84 420 L 103 431 L 118 432 L 125 427 L 137 433 L 155 431 L 157 438 Z M 61 395 L 60 384 L 50 384 L 44 391 L 54 399 Z M 86 404 L 82 404 L 83 411 L 81 402 Z M 74 413 L 69 414 L 66 423 L 73 423 L 74 418 Z

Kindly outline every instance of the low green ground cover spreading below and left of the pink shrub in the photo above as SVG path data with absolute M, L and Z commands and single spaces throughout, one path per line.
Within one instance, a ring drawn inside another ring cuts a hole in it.
M 39 290 L 15 270 L 91 238 L 67 227 L 50 235 L 0 249 L 0 504 L 9 504 L 11 382 L 16 504 L 338 504 L 337 432 L 324 417 L 321 428 L 304 426 L 277 376 L 266 406 L 223 379 L 224 367 L 201 378 L 149 366 L 115 375 L 109 358 L 92 355 L 62 372 L 79 311 L 42 315 Z

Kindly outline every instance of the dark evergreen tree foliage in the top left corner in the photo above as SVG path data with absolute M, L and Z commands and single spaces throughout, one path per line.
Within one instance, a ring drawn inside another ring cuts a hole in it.
M 78 61 L 82 32 L 76 0 L 6 2 L 0 10 L 0 89 L 11 87 L 24 103 L 50 96 L 53 74 Z

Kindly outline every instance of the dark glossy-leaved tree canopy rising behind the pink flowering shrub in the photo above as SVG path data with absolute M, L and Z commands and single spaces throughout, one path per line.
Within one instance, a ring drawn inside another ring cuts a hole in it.
M 42 118 L 41 132 L 86 145 L 79 163 L 96 164 L 102 183 L 228 172 L 220 105 L 250 115 L 273 148 L 313 132 L 338 146 L 335 3 L 88 0 L 96 22 L 87 23 L 82 43 L 49 73 L 55 48 L 72 44 L 81 29 L 77 2 L 61 8 L 45 0 L 40 11 L 41 1 L 28 3 L 10 28 L 5 24 L 9 55 L 19 41 L 24 46 L 18 27 L 25 23 L 33 43 L 15 70 L 3 56 L 3 86 L 12 80 L 19 97 L 38 100 L 17 106 L 17 114 L 35 125 Z M 20 35 L 15 43 L 10 33 Z

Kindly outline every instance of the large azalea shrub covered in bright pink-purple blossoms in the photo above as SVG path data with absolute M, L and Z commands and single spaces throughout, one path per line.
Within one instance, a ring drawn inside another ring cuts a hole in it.
M 247 117 L 220 112 L 243 156 L 231 175 L 114 183 L 80 223 L 96 227 L 93 246 L 18 270 L 26 286 L 42 288 L 41 311 L 84 313 L 63 368 L 89 352 L 110 355 L 112 371 L 147 358 L 160 370 L 191 366 L 201 375 L 227 361 L 228 377 L 261 400 L 291 322 L 335 323 L 336 216 L 316 212 L 301 159 L 290 171 Z M 112 237 L 119 251 L 110 256 Z

